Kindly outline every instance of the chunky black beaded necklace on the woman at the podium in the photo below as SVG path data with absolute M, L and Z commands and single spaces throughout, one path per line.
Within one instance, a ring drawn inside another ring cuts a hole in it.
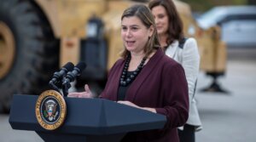
M 143 65 L 146 60 L 147 60 L 147 57 L 144 57 L 143 60 L 141 61 L 140 65 L 137 66 L 136 71 L 133 71 L 132 74 L 129 77 L 127 77 L 127 71 L 129 68 L 129 63 L 131 61 L 131 54 L 129 54 L 127 60 L 125 61 L 125 66 L 124 66 L 122 75 L 120 77 L 120 86 L 125 87 L 129 83 L 134 81 L 135 78 L 137 77 L 137 74 L 143 69 Z

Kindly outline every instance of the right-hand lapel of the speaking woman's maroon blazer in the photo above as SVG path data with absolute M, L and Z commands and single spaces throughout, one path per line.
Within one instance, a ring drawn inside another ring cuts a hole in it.
M 148 63 L 143 67 L 143 70 L 138 74 L 136 80 L 131 83 L 130 88 L 128 88 L 125 99 L 134 102 L 136 99 L 137 91 L 142 86 L 143 82 L 149 77 L 150 72 L 154 70 L 155 65 L 158 64 L 160 59 L 163 57 L 164 52 L 159 48 L 156 53 L 148 60 Z M 129 94 L 129 95 L 127 95 Z

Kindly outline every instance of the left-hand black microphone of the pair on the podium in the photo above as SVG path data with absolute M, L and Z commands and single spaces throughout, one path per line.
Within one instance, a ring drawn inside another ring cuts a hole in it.
M 68 71 L 73 70 L 73 63 L 68 62 L 66 65 L 64 65 L 61 68 L 61 71 L 56 71 L 52 77 L 52 79 L 49 81 L 49 84 L 53 84 L 55 82 L 59 82 L 62 80 L 62 78 L 67 74 Z

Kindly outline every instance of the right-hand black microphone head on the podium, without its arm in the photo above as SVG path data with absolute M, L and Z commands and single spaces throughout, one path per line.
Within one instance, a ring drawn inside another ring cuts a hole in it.
M 86 64 L 84 62 L 79 62 L 79 64 L 73 68 L 73 71 L 67 72 L 67 76 L 64 82 L 62 83 L 62 85 L 69 82 L 73 82 L 77 76 L 80 76 L 80 73 L 84 71 L 85 67 L 86 67 Z

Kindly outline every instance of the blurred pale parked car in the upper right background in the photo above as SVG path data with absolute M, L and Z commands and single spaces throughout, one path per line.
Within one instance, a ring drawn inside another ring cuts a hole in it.
M 215 7 L 201 14 L 197 21 L 203 29 L 220 26 L 221 38 L 229 47 L 256 48 L 256 6 Z

